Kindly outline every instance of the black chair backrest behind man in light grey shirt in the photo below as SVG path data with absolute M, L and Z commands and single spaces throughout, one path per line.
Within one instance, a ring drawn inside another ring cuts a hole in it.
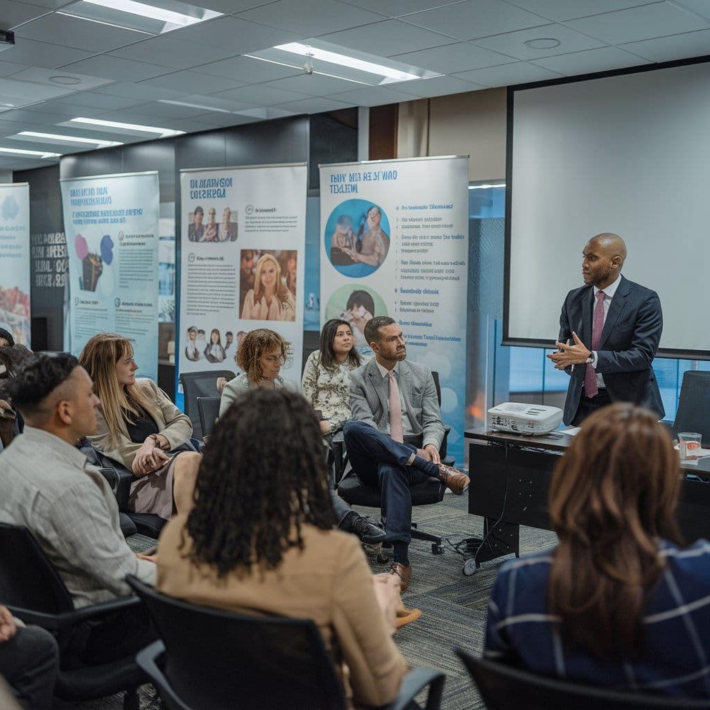
M 23 525 L 0 523 L 0 601 L 48 614 L 74 609 L 54 565 Z

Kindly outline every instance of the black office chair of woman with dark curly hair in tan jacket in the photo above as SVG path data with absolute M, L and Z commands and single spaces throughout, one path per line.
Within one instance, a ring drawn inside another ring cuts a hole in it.
M 197 606 L 128 578 L 163 639 L 138 653 L 168 710 L 344 710 L 346 700 L 320 631 L 310 619 L 244 616 Z M 388 710 L 404 710 L 429 686 L 439 708 L 446 676 L 415 668 Z M 225 699 L 229 699 L 227 702 Z

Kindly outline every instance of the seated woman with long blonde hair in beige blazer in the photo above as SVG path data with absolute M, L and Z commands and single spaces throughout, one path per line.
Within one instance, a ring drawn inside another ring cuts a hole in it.
M 190 448 L 192 423 L 155 383 L 136 378 L 129 339 L 94 335 L 79 356 L 101 400 L 97 430 L 89 439 L 107 457 L 133 471 L 129 508 L 169 519 L 192 506 L 202 456 Z

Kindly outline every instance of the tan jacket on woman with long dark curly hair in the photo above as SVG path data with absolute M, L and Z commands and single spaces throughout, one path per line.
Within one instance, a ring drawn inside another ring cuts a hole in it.
M 355 535 L 305 524 L 303 549 L 285 550 L 276 569 L 232 570 L 219 578 L 214 567 L 195 566 L 185 556 L 192 547 L 186 522 L 187 515 L 175 515 L 160 534 L 158 591 L 238 613 L 311 618 L 347 694 L 366 706 L 394 699 L 405 662 L 376 601 L 372 573 Z

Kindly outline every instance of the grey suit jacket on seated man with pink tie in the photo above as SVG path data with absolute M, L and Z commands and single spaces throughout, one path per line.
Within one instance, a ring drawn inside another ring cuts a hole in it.
M 418 427 L 414 433 L 422 435 L 422 447 L 434 444 L 439 449 L 444 439 L 444 425 L 430 369 L 408 360 L 401 361 L 398 386 L 412 423 Z M 353 419 L 381 432 L 388 432 L 389 386 L 379 371 L 376 359 L 350 373 L 350 408 Z

